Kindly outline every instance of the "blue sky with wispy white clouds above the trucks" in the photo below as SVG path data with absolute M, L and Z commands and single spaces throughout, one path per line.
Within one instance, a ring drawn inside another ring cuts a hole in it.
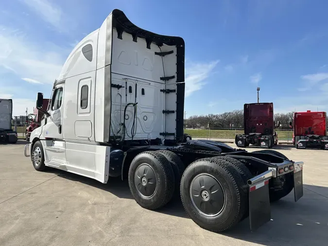
M 74 45 L 114 9 L 186 42 L 187 117 L 242 109 L 328 110 L 328 1 L 12 0 L 0 8 L 0 98 L 14 115 L 50 96 Z

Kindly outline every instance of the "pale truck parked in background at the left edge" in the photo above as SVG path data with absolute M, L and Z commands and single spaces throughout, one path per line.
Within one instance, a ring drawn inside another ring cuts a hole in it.
M 17 132 L 11 127 L 13 100 L 0 98 L 0 143 L 16 143 Z

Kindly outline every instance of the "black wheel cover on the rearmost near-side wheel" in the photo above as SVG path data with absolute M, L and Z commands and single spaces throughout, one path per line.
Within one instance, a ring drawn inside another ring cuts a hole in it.
M 220 182 L 209 174 L 194 177 L 190 184 L 190 198 L 197 211 L 206 216 L 220 214 L 225 204 Z

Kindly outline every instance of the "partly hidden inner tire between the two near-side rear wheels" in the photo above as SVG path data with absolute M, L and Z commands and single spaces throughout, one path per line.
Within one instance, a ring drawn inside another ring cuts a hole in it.
M 174 185 L 175 185 L 175 195 L 180 195 L 180 181 L 183 171 L 185 171 L 185 165 L 178 157 L 177 154 L 169 150 L 158 150 L 155 153 L 162 154 L 171 164 L 174 173 Z

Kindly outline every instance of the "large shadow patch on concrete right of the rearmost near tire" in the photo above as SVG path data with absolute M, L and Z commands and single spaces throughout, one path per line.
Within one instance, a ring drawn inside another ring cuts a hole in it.
M 272 220 L 257 231 L 249 229 L 249 218 L 221 234 L 260 245 L 327 245 L 328 187 L 304 185 L 304 196 L 296 203 L 293 191 L 271 204 Z

